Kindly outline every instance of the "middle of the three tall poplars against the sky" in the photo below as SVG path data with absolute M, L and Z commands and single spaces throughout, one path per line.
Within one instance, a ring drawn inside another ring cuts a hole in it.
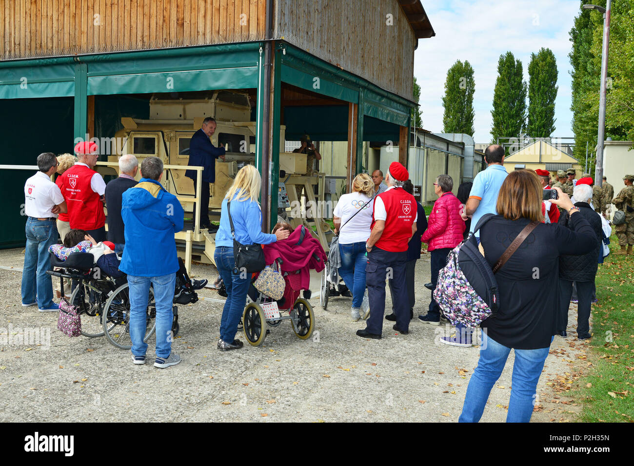
M 498 138 L 517 138 L 526 127 L 526 81 L 522 79 L 522 62 L 512 53 L 500 55 L 498 79 L 493 92 L 492 142 Z

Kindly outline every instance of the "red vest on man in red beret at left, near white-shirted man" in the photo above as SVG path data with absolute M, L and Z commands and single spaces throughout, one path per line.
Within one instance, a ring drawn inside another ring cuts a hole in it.
M 96 230 L 106 223 L 103 202 L 90 187 L 95 173 L 84 165 L 73 165 L 61 175 L 61 194 L 66 200 L 72 229 Z

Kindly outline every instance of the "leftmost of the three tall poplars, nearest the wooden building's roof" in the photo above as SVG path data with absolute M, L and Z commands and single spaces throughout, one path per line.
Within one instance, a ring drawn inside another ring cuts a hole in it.
M 474 68 L 458 60 L 447 71 L 443 97 L 443 133 L 474 134 Z

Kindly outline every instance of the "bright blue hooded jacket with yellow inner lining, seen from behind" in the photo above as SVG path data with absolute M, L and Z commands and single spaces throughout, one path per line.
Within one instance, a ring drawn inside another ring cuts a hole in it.
M 119 270 L 134 276 L 178 271 L 174 233 L 183 230 L 183 207 L 158 181 L 141 178 L 123 193 L 121 217 L 126 248 Z

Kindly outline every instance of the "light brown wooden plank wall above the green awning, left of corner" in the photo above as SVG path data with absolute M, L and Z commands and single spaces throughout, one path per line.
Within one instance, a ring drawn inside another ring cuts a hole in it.
M 1 0 L 0 60 L 264 39 L 266 0 Z

